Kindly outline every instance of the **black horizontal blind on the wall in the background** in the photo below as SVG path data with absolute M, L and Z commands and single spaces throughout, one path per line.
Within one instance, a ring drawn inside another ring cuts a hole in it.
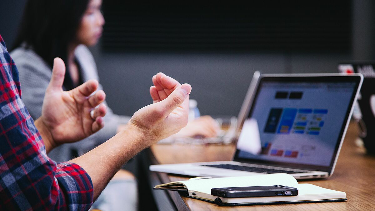
M 106 51 L 324 51 L 351 48 L 351 1 L 104 1 Z

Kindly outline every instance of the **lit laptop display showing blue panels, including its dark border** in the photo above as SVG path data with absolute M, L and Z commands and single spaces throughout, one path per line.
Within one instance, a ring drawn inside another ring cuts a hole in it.
M 242 126 L 235 159 L 329 171 L 358 78 L 261 78 Z

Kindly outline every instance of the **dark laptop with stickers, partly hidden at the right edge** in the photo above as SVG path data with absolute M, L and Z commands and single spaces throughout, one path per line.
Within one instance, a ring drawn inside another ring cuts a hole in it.
M 359 136 L 368 153 L 375 154 L 375 60 L 370 61 L 343 61 L 338 65 L 341 73 L 363 75 L 363 85 L 354 106 L 353 119 L 358 124 Z

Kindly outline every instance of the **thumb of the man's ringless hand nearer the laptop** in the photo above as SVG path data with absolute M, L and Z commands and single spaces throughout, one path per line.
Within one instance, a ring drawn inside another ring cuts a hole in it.
M 171 113 L 174 109 L 185 102 L 185 99 L 189 96 L 191 92 L 190 84 L 182 84 L 178 86 L 166 99 L 159 102 L 159 104 L 163 107 L 165 112 L 165 116 Z M 185 102 L 187 109 L 189 109 L 189 102 Z

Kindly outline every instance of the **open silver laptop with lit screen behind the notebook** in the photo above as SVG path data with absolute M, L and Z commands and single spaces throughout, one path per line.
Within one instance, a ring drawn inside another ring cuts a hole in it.
M 239 116 L 232 161 L 151 165 L 188 176 L 289 173 L 296 179 L 332 175 L 362 74 L 256 75 Z

